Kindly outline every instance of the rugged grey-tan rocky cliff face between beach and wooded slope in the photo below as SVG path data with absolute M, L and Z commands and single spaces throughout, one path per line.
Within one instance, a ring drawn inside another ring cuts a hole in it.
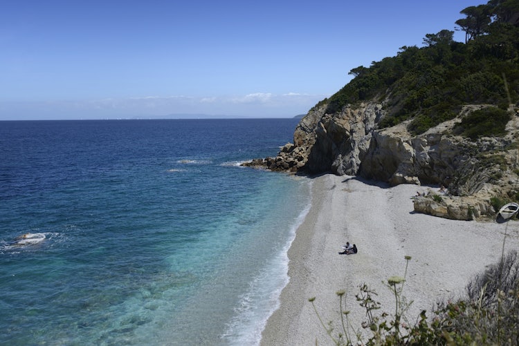
M 453 126 L 473 110 L 465 106 L 456 119 L 413 136 L 404 122 L 377 129 L 383 104 L 363 103 L 340 113 L 317 106 L 301 119 L 279 155 L 255 160 L 274 171 L 331 172 L 397 184 L 436 184 L 448 188 L 443 198 L 415 198 L 415 210 L 445 218 L 471 220 L 495 213 L 491 197 L 516 193 L 518 117 L 504 137 L 472 141 L 453 135 Z M 441 201 L 440 201 L 441 200 Z

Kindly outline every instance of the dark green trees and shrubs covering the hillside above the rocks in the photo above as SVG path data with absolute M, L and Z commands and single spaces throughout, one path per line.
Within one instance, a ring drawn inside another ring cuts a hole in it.
M 379 126 L 412 119 L 408 129 L 419 134 L 453 119 L 464 104 L 493 104 L 507 109 L 517 103 L 519 1 L 491 0 L 460 13 L 466 17 L 456 24 L 466 33 L 465 43 L 454 41 L 453 31 L 441 30 L 427 34 L 421 48 L 403 46 L 396 57 L 373 61 L 369 68 L 353 68 L 349 74 L 354 79 L 320 102 L 327 104 L 326 113 L 374 97 L 387 97 L 387 116 Z M 498 111 L 486 115 L 496 122 L 504 121 Z M 493 130 L 499 132 L 500 128 L 479 126 L 471 131 L 465 124 L 461 134 L 478 137 L 482 131 L 484 135 L 498 135 Z

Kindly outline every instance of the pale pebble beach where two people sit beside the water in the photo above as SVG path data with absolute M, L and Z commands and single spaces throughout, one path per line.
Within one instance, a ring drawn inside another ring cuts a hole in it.
M 268 319 L 261 345 L 327 345 L 308 298 L 322 319 L 340 327 L 336 291 L 347 290 L 346 308 L 354 329 L 365 311 L 356 302 L 358 286 L 367 283 L 379 294 L 382 310 L 394 299 L 382 284 L 403 276 L 404 256 L 412 256 L 404 296 L 413 300 L 408 316 L 430 308 L 439 297 L 463 292 L 466 282 L 501 255 L 505 224 L 435 218 L 413 212 L 412 196 L 426 186 L 393 188 L 365 184 L 347 176 L 322 175 L 313 181 L 312 206 L 289 249 L 290 282 L 281 306 Z M 354 256 L 339 255 L 347 241 Z M 505 251 L 519 245 L 519 222 L 509 222 Z M 350 333 L 353 337 L 354 333 Z

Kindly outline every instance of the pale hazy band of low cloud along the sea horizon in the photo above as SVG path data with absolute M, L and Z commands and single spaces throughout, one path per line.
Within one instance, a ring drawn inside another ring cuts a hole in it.
M 147 95 L 33 103 L 0 102 L 0 119 L 109 119 L 172 114 L 291 117 L 307 112 L 325 97 L 327 95 L 250 93 L 241 96 Z

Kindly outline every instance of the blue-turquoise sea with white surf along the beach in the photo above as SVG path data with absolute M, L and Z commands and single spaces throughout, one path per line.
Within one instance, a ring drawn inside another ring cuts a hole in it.
M 239 163 L 297 122 L 0 122 L 0 344 L 257 345 L 311 182 Z

